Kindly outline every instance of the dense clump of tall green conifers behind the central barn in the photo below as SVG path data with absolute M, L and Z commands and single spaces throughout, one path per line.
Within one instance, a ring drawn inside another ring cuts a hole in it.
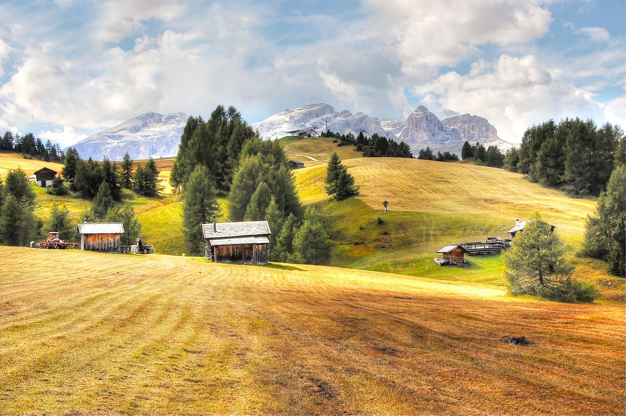
M 202 224 L 223 215 L 223 197 L 230 221 L 268 221 L 270 261 L 330 261 L 330 238 L 315 208 L 300 203 L 282 146 L 260 140 L 232 106 L 217 106 L 207 121 L 187 119 L 170 184 L 182 195 L 190 253 L 203 253 Z

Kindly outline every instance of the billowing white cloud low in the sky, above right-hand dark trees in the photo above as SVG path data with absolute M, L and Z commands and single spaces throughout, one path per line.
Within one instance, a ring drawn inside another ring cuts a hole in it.
M 528 127 L 551 118 L 585 114 L 597 123 L 604 118 L 603 104 L 592 94 L 543 68 L 532 55 L 480 62 L 467 75 L 449 72 L 413 92 L 436 114 L 453 110 L 485 117 L 511 143 L 518 143 Z

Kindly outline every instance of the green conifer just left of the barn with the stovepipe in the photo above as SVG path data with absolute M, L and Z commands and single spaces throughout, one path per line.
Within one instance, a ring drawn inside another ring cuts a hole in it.
M 207 166 L 198 165 L 183 188 L 183 235 L 189 253 L 202 253 L 202 224 L 219 212 Z

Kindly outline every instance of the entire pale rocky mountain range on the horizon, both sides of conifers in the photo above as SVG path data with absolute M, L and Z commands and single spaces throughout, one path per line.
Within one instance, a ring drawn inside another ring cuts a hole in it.
M 125 153 L 133 160 L 176 156 L 180 136 L 187 123 L 187 114 L 145 113 L 131 118 L 113 128 L 92 134 L 71 147 L 81 158 L 94 160 L 122 160 Z M 379 119 L 365 113 L 337 112 L 324 103 L 309 104 L 295 109 L 285 109 L 259 123 L 252 124 L 260 138 L 275 140 L 289 136 L 289 131 L 313 128 L 317 133 L 329 129 L 335 133 L 366 136 L 376 133 L 396 141 L 404 141 L 414 155 L 429 146 L 435 153 L 449 151 L 461 155 L 463 143 L 480 141 L 486 147 L 496 145 L 502 151 L 513 147 L 500 139 L 494 126 L 480 116 L 463 114 L 439 120 L 424 106 L 411 113 L 405 121 Z

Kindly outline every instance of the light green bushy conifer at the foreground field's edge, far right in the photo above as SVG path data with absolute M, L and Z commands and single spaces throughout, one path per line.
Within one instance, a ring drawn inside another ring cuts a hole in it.
M 509 292 L 556 299 L 567 295 L 573 267 L 565 261 L 564 251 L 551 226 L 535 211 L 503 256 Z

